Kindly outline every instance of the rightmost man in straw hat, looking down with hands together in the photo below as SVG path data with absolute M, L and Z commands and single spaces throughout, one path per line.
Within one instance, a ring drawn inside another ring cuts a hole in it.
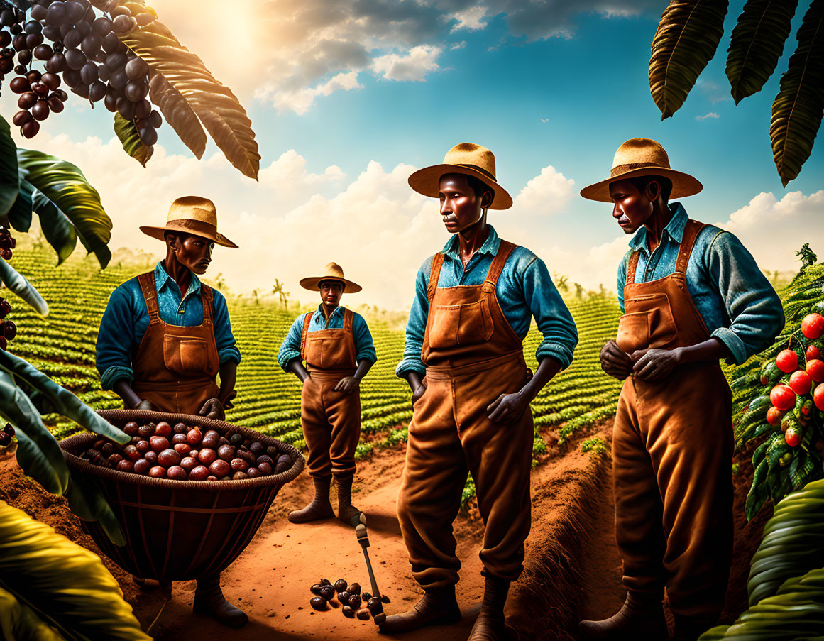
M 634 234 L 618 268 L 618 335 L 601 352 L 624 381 L 612 440 L 616 540 L 627 597 L 588 639 L 695 639 L 721 613 L 733 545 L 731 394 L 719 359 L 744 363 L 784 326 L 741 242 L 670 199 L 701 184 L 648 138 L 622 144 L 610 177 L 581 190 Z

